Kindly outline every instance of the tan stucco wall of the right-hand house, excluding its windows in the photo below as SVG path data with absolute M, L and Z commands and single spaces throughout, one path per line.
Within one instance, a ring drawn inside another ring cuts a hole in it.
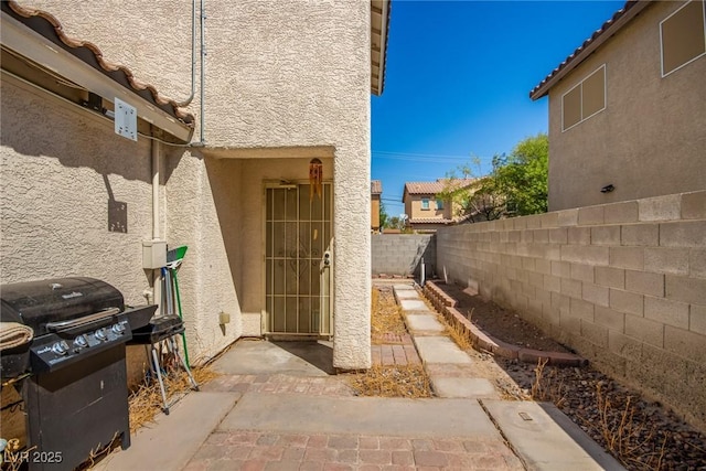
M 682 4 L 654 2 L 552 88 L 549 210 L 706 189 L 706 56 L 661 77 L 660 21 Z M 561 132 L 561 95 L 602 64 L 606 109 Z

